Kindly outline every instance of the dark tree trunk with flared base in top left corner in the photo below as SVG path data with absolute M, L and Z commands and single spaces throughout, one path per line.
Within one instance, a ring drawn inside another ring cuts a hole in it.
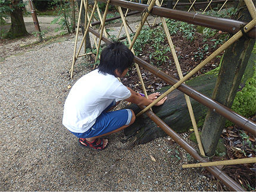
M 20 8 L 18 4 L 20 4 L 20 0 L 11 1 L 10 7 L 13 8 L 13 11 L 10 12 L 11 29 L 7 33 L 7 38 L 16 38 L 29 35 L 24 23 L 22 8 Z

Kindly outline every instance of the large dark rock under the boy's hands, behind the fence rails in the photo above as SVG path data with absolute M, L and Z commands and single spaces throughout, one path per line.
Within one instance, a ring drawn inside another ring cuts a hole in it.
M 187 81 L 186 84 L 198 92 L 201 92 L 204 95 L 210 97 L 211 93 L 213 92 L 216 80 L 216 74 L 211 73 L 193 78 L 192 80 Z M 160 93 L 164 93 L 170 87 L 171 86 L 163 87 L 158 91 Z M 198 122 L 198 126 L 200 126 L 203 124 L 207 108 L 192 98 L 191 104 L 195 114 L 196 122 Z M 130 105 L 129 108 L 133 109 L 135 114 L 141 111 L 141 109 L 139 109 L 138 106 L 134 104 Z M 168 95 L 164 105 L 155 106 L 152 108 L 152 110 L 177 133 L 182 133 L 188 131 L 189 128 L 192 128 L 192 122 L 189 116 L 188 107 L 186 105 L 185 96 L 179 90 L 174 90 L 171 92 Z M 136 137 L 139 136 L 139 138 L 137 138 L 137 142 L 140 144 L 147 143 L 148 141 L 158 137 L 166 136 L 166 133 L 164 133 L 160 127 L 157 127 L 157 125 L 145 114 L 136 118 L 135 123 L 124 130 L 124 134 L 127 137 L 132 137 L 137 134 L 138 131 L 139 134 Z

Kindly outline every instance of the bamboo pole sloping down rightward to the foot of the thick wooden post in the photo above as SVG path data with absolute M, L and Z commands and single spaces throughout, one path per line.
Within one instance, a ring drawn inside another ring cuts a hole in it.
M 160 5 L 158 0 L 156 1 L 156 4 Z M 177 55 L 176 55 L 176 52 L 175 52 L 175 49 L 174 49 L 173 41 L 171 40 L 171 35 L 170 35 L 169 30 L 168 30 L 168 27 L 167 27 L 167 24 L 166 24 L 166 20 L 164 20 L 163 17 L 160 17 L 160 18 L 161 18 L 161 21 L 163 23 L 164 32 L 166 32 L 166 37 L 167 37 L 167 40 L 168 40 L 168 43 L 169 43 L 169 46 L 170 46 L 170 49 L 171 49 L 171 54 L 173 55 L 173 59 L 174 59 L 175 65 L 176 65 L 179 77 L 181 79 L 181 78 L 183 78 L 182 70 L 180 69 L 179 60 L 177 58 Z M 189 115 L 191 117 L 191 121 L 192 121 L 192 125 L 193 125 L 193 130 L 195 131 L 195 136 L 196 136 L 196 141 L 198 143 L 199 151 L 200 151 L 202 156 L 205 156 L 204 148 L 202 147 L 202 141 L 200 139 L 200 135 L 199 135 L 199 132 L 198 132 L 198 127 L 197 127 L 196 121 L 195 121 L 195 115 L 193 114 L 191 100 L 189 99 L 188 95 L 184 94 L 184 96 L 185 96 L 185 99 L 186 99 L 186 103 L 188 105 Z

